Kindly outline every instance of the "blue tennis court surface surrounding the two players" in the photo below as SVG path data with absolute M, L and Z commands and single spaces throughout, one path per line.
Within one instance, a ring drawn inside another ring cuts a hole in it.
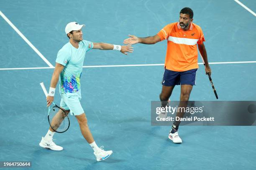
M 240 2 L 256 11 L 254 0 Z M 155 35 L 177 22 L 186 6 L 204 32 L 219 100 L 256 100 L 256 17 L 234 0 L 2 0 L 0 11 L 55 65 L 58 50 L 68 42 L 69 22 L 86 25 L 85 40 L 121 44 L 128 34 Z M 159 100 L 163 66 L 128 65 L 163 64 L 166 41 L 136 44 L 127 56 L 113 50 L 86 55 L 84 66 L 102 67 L 83 68 L 81 104 L 97 145 L 113 150 L 110 158 L 96 161 L 72 116 L 69 130 L 54 135 L 64 150 L 41 148 L 49 126 L 39 83 L 48 89 L 54 69 L 2 17 L 0 26 L 0 161 L 31 161 L 33 170 L 256 169 L 255 126 L 182 126 L 180 145 L 168 139 L 170 127 L 151 126 L 151 101 Z M 203 65 L 196 82 L 190 100 L 216 100 Z M 179 94 L 177 86 L 170 100 L 179 100 Z

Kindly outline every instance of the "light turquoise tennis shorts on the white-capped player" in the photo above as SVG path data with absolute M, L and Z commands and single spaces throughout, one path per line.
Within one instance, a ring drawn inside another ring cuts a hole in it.
M 60 107 L 70 110 L 70 115 L 81 115 L 84 113 L 80 100 L 82 99 L 81 91 L 61 93 Z

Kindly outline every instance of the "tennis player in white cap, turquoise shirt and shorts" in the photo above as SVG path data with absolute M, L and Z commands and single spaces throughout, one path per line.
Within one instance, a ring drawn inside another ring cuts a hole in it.
M 97 161 L 107 159 L 113 152 L 105 151 L 103 146 L 100 148 L 96 145 L 92 133 L 87 125 L 87 118 L 80 103 L 80 77 L 82 66 L 86 53 L 91 49 L 99 50 L 118 50 L 127 55 L 127 52 L 133 52 L 131 45 L 112 45 L 108 43 L 96 43 L 83 40 L 82 27 L 76 22 L 68 23 L 65 32 L 69 42 L 59 50 L 56 58 L 54 73 L 51 78 L 49 94 L 46 97 L 47 107 L 54 101 L 55 88 L 59 81 L 59 92 L 61 95 L 60 107 L 70 115 L 75 115 L 80 126 L 80 130 L 85 140 L 94 150 Z M 54 130 L 50 127 L 45 137 L 42 137 L 39 145 L 51 150 L 63 150 L 61 146 L 53 142 Z

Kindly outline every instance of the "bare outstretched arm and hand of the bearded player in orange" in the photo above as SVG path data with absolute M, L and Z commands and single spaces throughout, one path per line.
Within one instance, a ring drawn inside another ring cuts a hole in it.
M 129 35 L 130 38 L 127 38 L 123 41 L 124 44 L 155 44 L 156 42 L 161 41 L 161 38 L 158 35 L 150 36 L 150 37 L 144 37 L 144 38 L 138 38 L 135 35 Z

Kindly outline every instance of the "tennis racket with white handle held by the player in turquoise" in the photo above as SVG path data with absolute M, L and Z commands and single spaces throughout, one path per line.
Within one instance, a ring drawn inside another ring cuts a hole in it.
M 47 90 L 44 86 L 44 82 L 40 83 L 45 96 L 48 96 Z M 57 133 L 64 133 L 69 129 L 70 121 L 67 113 L 61 109 L 58 105 L 52 102 L 54 106 L 49 106 L 48 122 L 51 128 Z

